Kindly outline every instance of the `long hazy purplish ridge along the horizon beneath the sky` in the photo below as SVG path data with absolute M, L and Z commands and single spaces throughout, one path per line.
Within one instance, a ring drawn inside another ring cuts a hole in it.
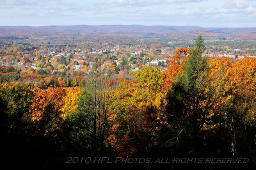
M 256 27 L 197 27 L 197 26 L 141 26 L 141 25 L 102 25 L 102 26 L 0 26 L 0 37 L 54 36 L 87 34 L 132 34 L 132 35 L 172 35 L 195 36 L 247 36 L 256 38 Z

